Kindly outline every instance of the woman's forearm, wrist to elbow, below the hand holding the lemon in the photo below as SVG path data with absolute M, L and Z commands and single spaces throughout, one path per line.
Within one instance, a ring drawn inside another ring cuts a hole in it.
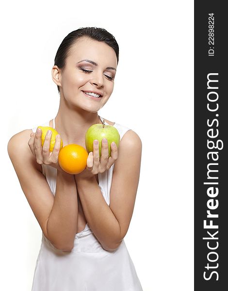
M 50 242 L 58 249 L 70 251 L 78 227 L 78 197 L 74 175 L 57 171 L 56 192 L 47 223 Z

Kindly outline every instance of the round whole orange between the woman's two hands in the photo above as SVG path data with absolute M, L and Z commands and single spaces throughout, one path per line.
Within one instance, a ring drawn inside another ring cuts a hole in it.
M 59 165 L 68 174 L 79 174 L 87 164 L 88 153 L 82 146 L 70 144 L 59 152 Z

